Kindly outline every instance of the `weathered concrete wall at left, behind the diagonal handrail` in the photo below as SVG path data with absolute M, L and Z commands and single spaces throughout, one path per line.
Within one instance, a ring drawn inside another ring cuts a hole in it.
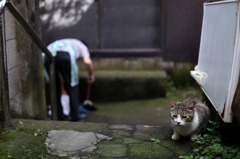
M 40 33 L 38 0 L 12 0 L 32 28 Z M 10 108 L 25 117 L 46 118 L 41 51 L 5 10 Z

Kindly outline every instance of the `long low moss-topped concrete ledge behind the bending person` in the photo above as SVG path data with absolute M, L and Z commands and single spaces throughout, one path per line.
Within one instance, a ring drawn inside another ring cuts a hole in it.
M 80 99 L 86 97 L 86 73 L 80 72 Z M 167 76 L 163 71 L 95 71 L 91 99 L 119 101 L 164 97 Z

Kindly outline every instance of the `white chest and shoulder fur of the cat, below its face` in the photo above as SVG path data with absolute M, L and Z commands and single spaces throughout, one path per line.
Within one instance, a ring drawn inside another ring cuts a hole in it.
M 186 122 L 181 126 L 173 126 L 173 130 L 182 136 L 190 136 L 199 126 L 199 117 L 197 111 L 195 111 L 192 122 Z

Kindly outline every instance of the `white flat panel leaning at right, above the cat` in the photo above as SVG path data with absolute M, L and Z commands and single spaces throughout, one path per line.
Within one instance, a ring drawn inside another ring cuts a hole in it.
M 204 4 L 197 71 L 206 76 L 202 89 L 219 113 L 228 98 L 237 32 L 238 1 Z

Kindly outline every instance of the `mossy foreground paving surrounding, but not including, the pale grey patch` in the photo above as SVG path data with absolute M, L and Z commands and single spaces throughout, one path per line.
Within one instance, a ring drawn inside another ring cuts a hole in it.
M 171 129 L 161 126 L 25 119 L 13 119 L 12 124 L 12 129 L 5 131 L 11 138 L 0 142 L 0 158 L 66 158 L 48 153 L 44 142 L 47 133 L 51 130 L 101 133 L 112 138 L 94 144 L 96 149 L 93 152 L 79 150 L 77 154 L 71 155 L 74 159 L 173 159 L 178 158 L 179 155 L 189 154 L 192 144 L 188 139 L 172 141 Z M 152 138 L 159 141 L 153 142 Z M 64 138 L 55 138 L 55 140 L 64 140 Z

